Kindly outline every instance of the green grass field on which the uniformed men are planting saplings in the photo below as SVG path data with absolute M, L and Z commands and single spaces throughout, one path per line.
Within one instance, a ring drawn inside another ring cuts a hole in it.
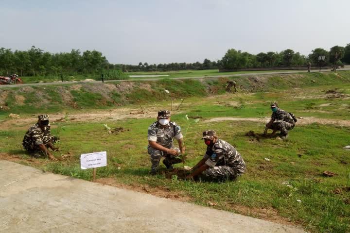
M 326 94 L 329 90 L 336 90 L 340 96 Z M 220 138 L 236 147 L 246 162 L 247 171 L 236 182 L 193 182 L 179 180 L 176 176 L 167 179 L 164 174 L 148 175 L 151 163 L 146 149 L 147 128 L 155 116 L 53 124 L 53 134 L 60 131 L 61 137 L 61 151 L 55 153 L 57 158 L 62 158 L 58 162 L 32 160 L 25 154 L 20 142 L 26 126 L 18 124 L 0 131 L 0 152 L 5 153 L 7 159 L 25 165 L 91 180 L 91 171 L 80 169 L 79 156 L 106 150 L 108 166 L 98 169 L 98 182 L 152 189 L 155 195 L 157 190 L 165 190 L 176 193 L 181 200 L 206 206 L 210 201 L 215 203 L 212 208 L 302 225 L 308 232 L 346 233 L 350 226 L 350 154 L 342 147 L 350 144 L 350 127 L 322 123 L 297 125 L 288 140 L 280 141 L 245 135 L 249 131 L 262 133 L 263 120 L 209 120 L 213 117 L 262 119 L 270 116 L 269 102 L 272 100 L 278 100 L 282 109 L 297 117 L 350 120 L 349 90 L 349 83 L 302 88 L 286 85 L 253 94 L 188 97 L 172 117 L 185 134 L 188 154 L 185 165 L 193 166 L 201 159 L 206 149 L 200 140 L 201 132 L 214 129 Z M 84 98 L 81 94 L 78 97 Z M 169 108 L 169 100 L 151 101 L 143 107 L 147 110 L 155 106 Z M 185 115 L 202 118 L 196 123 L 192 118 L 187 120 Z M 111 128 L 123 127 L 126 131 L 108 134 L 103 124 Z M 164 169 L 163 165 L 161 167 Z M 325 170 L 336 175 L 324 177 Z

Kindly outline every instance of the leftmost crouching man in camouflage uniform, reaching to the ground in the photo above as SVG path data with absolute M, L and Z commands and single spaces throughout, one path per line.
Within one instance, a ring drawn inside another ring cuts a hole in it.
M 53 147 L 57 139 L 57 137 L 51 136 L 49 116 L 43 114 L 38 116 L 37 123 L 29 128 L 24 135 L 22 145 L 23 148 L 33 154 L 35 158 L 46 156 L 51 160 L 57 160 L 49 151 L 49 148 L 53 151 L 58 150 L 58 148 Z

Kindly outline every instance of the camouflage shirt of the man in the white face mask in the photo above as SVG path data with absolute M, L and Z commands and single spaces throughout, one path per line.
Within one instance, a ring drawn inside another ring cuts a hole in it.
M 166 148 L 173 147 L 174 138 L 178 140 L 182 137 L 180 126 L 173 121 L 165 128 L 162 128 L 158 121 L 148 127 L 148 141 L 155 141 Z

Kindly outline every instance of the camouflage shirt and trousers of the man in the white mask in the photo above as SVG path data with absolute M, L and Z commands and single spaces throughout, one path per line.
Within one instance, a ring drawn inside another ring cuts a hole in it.
M 154 122 L 148 128 L 148 141 L 156 141 L 157 144 L 171 150 L 177 150 L 178 153 L 180 153 L 180 150 L 174 147 L 173 141 L 174 139 L 179 140 L 182 137 L 180 126 L 173 121 L 170 121 L 165 128 L 162 128 L 158 121 Z M 181 159 L 161 150 L 156 150 L 150 145 L 148 145 L 147 149 L 148 153 L 151 155 L 152 172 L 157 170 L 161 157 L 165 158 L 163 164 L 167 167 L 171 167 L 173 164 L 181 162 Z

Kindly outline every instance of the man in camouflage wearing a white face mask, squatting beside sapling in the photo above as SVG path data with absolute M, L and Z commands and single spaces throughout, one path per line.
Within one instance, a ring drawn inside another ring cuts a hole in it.
M 179 148 L 174 147 L 173 141 L 177 140 Z M 148 153 L 151 156 L 151 174 L 157 174 L 160 158 L 164 157 L 163 164 L 167 169 L 173 169 L 173 164 L 181 163 L 176 158 L 180 153 L 185 153 L 185 146 L 181 128 L 175 122 L 170 121 L 170 112 L 160 110 L 157 121 L 148 127 Z

